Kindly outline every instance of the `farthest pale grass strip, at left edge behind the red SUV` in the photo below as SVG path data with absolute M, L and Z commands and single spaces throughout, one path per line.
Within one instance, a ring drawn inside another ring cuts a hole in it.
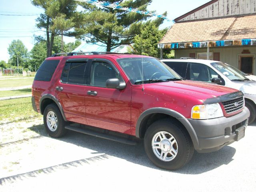
M 30 78 L 30 79 L 4 79 L 4 80 L 0 80 L 0 88 L 32 85 L 33 80 L 34 80 L 33 78 Z

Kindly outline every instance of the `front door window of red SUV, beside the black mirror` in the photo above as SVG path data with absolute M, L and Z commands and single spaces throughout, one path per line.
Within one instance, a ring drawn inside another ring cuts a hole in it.
M 114 68 L 105 62 L 92 62 L 91 85 L 106 86 L 106 80 L 110 78 L 118 78 L 118 74 Z

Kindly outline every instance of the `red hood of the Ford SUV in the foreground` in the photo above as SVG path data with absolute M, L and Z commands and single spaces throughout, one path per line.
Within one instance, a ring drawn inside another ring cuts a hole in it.
M 192 97 L 199 98 L 201 100 L 206 100 L 208 98 L 217 97 L 220 95 L 238 91 L 236 89 L 221 85 L 191 80 L 144 84 L 144 87 L 154 90 L 162 90 L 162 92 L 177 92 L 181 94 L 186 94 Z

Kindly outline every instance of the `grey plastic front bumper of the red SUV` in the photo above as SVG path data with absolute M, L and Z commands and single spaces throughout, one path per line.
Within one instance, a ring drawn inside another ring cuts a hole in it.
M 198 137 L 198 152 L 213 152 L 240 139 L 241 132 L 248 124 L 248 108 L 231 117 L 207 120 L 188 119 Z M 238 133 L 239 132 L 239 133 Z M 240 134 L 240 136 L 239 136 Z

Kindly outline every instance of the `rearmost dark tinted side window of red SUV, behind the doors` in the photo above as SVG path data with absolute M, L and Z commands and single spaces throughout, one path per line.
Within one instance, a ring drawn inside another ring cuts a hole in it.
M 50 81 L 59 62 L 60 60 L 44 60 L 44 62 L 36 72 L 34 80 Z

